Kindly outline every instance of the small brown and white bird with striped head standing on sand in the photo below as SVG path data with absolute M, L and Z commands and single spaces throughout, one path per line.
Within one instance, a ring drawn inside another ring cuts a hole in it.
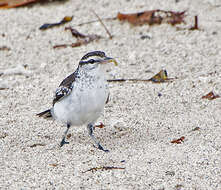
M 38 113 L 45 119 L 53 118 L 67 125 L 60 146 L 69 144 L 65 141 L 72 125 L 87 125 L 90 137 L 97 148 L 107 152 L 93 135 L 94 124 L 109 100 L 108 84 L 103 64 L 115 59 L 107 57 L 102 51 L 89 52 L 82 57 L 74 73 L 65 78 L 57 90 L 51 109 Z

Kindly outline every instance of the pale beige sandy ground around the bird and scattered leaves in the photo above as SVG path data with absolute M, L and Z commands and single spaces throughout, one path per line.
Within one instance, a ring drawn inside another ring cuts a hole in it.
M 221 2 L 213 0 L 80 1 L 0 10 L 0 189 L 221 189 Z M 201 30 L 132 27 L 107 21 L 77 27 L 120 12 L 187 10 L 187 25 L 199 17 Z M 78 48 L 53 49 L 75 39 L 64 26 L 40 31 L 44 23 L 73 15 L 66 24 L 106 37 Z M 142 39 L 143 35 L 149 38 Z M 55 89 L 87 52 L 103 50 L 119 66 L 109 78 L 150 78 L 161 69 L 171 83 L 111 83 L 111 101 L 96 129 L 105 153 L 93 147 L 85 126 L 72 127 L 70 144 L 59 142 L 65 126 L 35 116 L 51 106 Z M 10 74 L 17 68 L 23 74 Z M 24 66 L 26 69 L 24 69 Z M 6 72 L 10 71 L 10 72 Z M 161 93 L 162 96 L 158 96 Z M 194 128 L 199 130 L 193 131 Z M 184 136 L 181 144 L 170 141 Z M 35 146 L 36 145 L 36 146 Z M 96 167 L 125 169 L 88 171 Z

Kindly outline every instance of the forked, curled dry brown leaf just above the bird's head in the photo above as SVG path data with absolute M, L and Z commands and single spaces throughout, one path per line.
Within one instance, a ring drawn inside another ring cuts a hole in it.
M 65 47 L 78 47 L 81 45 L 89 44 L 90 42 L 101 39 L 102 37 L 96 34 L 82 34 L 74 28 L 66 27 L 65 30 L 70 30 L 72 35 L 77 38 L 77 41 L 72 44 L 60 44 L 55 45 L 53 48 L 65 48 Z

